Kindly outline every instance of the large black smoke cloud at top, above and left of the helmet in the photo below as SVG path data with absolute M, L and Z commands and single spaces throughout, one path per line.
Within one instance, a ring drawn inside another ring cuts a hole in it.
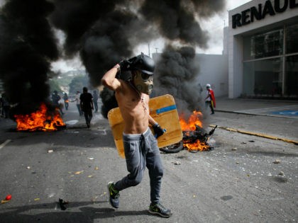
M 65 31 L 65 52 L 79 52 L 93 86 L 121 59 L 133 56 L 133 49 L 156 38 L 150 21 L 135 8 L 141 1 L 57 0 L 51 16 L 55 27 Z

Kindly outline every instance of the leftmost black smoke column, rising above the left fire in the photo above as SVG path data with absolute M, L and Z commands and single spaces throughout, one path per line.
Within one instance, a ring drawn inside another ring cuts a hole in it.
M 59 58 L 45 0 L 12 0 L 0 14 L 0 78 L 14 113 L 31 113 L 49 95 L 50 62 Z

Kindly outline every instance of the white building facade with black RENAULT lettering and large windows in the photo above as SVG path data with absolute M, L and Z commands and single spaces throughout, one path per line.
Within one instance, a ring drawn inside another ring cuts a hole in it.
M 228 98 L 298 98 L 298 0 L 228 11 Z

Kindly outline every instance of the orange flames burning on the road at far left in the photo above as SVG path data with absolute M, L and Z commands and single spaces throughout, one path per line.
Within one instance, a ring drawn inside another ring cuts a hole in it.
M 16 118 L 18 131 L 52 131 L 57 130 L 57 127 L 64 127 L 65 123 L 63 122 L 59 110 L 55 110 L 54 114 L 49 114 L 47 106 L 42 103 L 40 108 L 35 112 L 29 115 L 14 115 Z

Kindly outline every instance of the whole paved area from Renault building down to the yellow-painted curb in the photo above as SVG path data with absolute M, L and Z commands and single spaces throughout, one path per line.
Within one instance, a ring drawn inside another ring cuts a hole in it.
M 297 124 L 297 101 L 222 97 L 216 98 L 210 126 L 298 144 Z

